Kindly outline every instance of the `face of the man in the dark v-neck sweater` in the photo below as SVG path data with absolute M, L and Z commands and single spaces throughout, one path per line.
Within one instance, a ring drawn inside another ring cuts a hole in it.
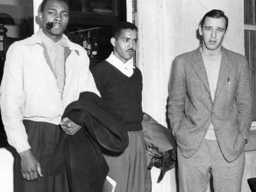
M 138 33 L 136 30 L 122 29 L 118 39 L 111 38 L 111 44 L 114 46 L 114 55 L 123 63 L 131 60 L 136 50 L 137 41 Z

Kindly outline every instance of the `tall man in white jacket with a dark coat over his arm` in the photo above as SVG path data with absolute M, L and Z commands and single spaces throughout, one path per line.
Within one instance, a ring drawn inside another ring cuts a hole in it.
M 44 0 L 39 18 L 42 29 L 8 49 L 1 83 L 1 115 L 8 142 L 17 150 L 15 191 L 65 192 L 69 191 L 66 173 L 47 175 L 60 135 L 61 116 L 79 93 L 99 92 L 86 51 L 63 35 L 68 1 Z M 81 128 L 69 125 L 63 126 L 67 134 Z

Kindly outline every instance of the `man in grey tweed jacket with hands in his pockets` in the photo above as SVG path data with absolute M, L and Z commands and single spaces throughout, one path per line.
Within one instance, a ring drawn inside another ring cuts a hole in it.
M 246 58 L 222 47 L 228 18 L 205 14 L 202 45 L 175 58 L 168 118 L 177 141 L 180 191 L 241 191 L 244 147 L 252 122 Z

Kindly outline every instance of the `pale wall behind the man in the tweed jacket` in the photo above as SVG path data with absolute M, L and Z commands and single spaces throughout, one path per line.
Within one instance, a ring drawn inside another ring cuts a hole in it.
M 139 67 L 143 73 L 143 110 L 163 125 L 172 61 L 200 44 L 196 31 L 200 19 L 212 9 L 223 10 L 230 19 L 227 49 L 244 54 L 243 0 L 138 0 Z M 159 170 L 153 170 L 153 192 L 176 191 L 175 170 L 156 184 Z

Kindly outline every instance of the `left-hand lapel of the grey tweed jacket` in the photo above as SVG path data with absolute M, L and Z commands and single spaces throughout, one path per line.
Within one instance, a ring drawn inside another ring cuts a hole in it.
M 193 61 L 192 66 L 195 69 L 196 74 L 201 79 L 202 83 L 204 84 L 207 92 L 211 96 L 209 82 L 208 82 L 208 79 L 207 79 L 207 74 L 206 74 L 206 70 L 205 70 L 205 67 L 204 67 L 204 61 L 203 61 L 200 49 L 201 49 L 201 46 L 198 47 L 198 49 L 195 50 L 195 54 L 192 58 L 192 61 Z

